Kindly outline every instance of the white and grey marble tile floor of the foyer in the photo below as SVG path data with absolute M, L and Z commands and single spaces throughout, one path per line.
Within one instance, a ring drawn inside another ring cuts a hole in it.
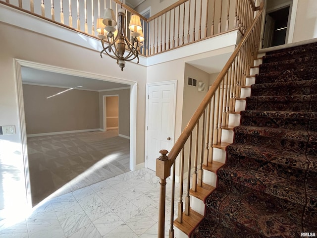
M 167 238 L 172 182 L 166 182 Z M 2 226 L 0 237 L 157 238 L 158 207 L 159 179 L 144 168 L 43 201 L 29 217 Z

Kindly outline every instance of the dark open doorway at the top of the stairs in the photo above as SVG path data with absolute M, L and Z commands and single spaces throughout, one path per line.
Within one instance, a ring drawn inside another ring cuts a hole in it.
M 262 48 L 279 46 L 287 43 L 289 16 L 290 5 L 266 13 Z

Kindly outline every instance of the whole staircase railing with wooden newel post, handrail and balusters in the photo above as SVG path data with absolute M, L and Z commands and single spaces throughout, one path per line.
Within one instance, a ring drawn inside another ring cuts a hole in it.
M 158 238 L 164 238 L 165 226 L 165 185 L 166 179 L 172 170 L 171 214 L 169 238 L 174 238 L 174 196 L 175 196 L 175 161 L 180 155 L 180 192 L 178 197 L 177 218 L 178 223 L 183 222 L 184 215 L 190 215 L 190 179 L 191 169 L 192 190 L 202 186 L 203 166 L 213 163 L 213 148 L 223 146 L 221 143 L 221 130 L 228 126 L 229 113 L 235 111 L 235 102 L 240 98 L 241 87 L 245 86 L 246 76 L 257 57 L 260 45 L 260 32 L 262 24 L 263 2 L 258 8 L 259 12 L 250 24 L 249 29 L 234 50 L 232 56 L 219 73 L 215 82 L 207 92 L 196 112 L 184 128 L 178 140 L 168 153 L 161 150 L 161 156 L 157 159 L 156 175 L 160 179 L 159 197 L 159 229 Z M 194 143 L 193 143 L 194 141 Z M 192 151 L 194 153 L 192 153 Z M 168 153 L 168 156 L 167 156 Z M 185 155 L 188 156 L 185 158 Z M 191 161 L 194 160 L 194 167 Z M 184 163 L 187 161 L 187 182 L 183 184 Z M 185 204 L 183 202 L 183 190 L 185 190 Z

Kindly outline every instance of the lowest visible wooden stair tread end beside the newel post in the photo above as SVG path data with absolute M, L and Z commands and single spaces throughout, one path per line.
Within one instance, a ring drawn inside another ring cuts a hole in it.
M 183 212 L 183 222 L 179 223 L 176 219 L 174 226 L 189 236 L 203 219 L 203 215 L 190 209 L 189 216 L 186 216 Z

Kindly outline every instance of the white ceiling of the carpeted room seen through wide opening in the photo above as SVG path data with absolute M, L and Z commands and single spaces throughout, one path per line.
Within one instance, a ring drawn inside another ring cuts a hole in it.
M 81 89 L 83 90 L 104 91 L 130 86 L 122 83 L 66 75 L 27 67 L 21 68 L 21 74 L 22 83 L 55 86 L 61 88 L 74 88 L 82 86 Z

